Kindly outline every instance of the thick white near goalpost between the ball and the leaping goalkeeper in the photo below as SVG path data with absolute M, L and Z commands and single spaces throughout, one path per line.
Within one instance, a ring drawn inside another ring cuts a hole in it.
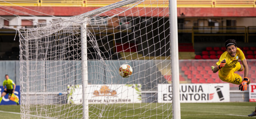
M 180 119 L 180 82 L 178 64 L 177 0 L 169 0 L 171 64 L 172 64 L 172 117 Z

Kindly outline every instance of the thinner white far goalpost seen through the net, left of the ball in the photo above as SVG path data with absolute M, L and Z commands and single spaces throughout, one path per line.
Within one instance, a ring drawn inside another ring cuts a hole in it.
M 82 53 L 82 96 L 83 96 L 83 119 L 89 119 L 89 108 L 87 100 L 86 87 L 88 85 L 88 70 L 87 70 L 87 34 L 86 23 L 81 27 L 81 53 Z

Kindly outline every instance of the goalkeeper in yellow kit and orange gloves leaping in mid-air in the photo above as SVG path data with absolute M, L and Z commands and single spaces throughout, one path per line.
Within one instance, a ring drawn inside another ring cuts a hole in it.
M 222 81 L 230 82 L 232 84 L 239 85 L 239 90 L 245 91 L 247 90 L 247 85 L 250 84 L 250 79 L 248 78 L 248 64 L 245 59 L 244 53 L 242 50 L 236 47 L 236 40 L 230 39 L 225 42 L 225 46 L 227 51 L 222 53 L 219 61 L 216 63 L 216 67 L 212 66 L 213 73 L 219 71 L 219 78 Z M 241 65 L 238 60 L 242 61 Z M 244 70 L 244 79 L 242 77 L 234 73 L 236 71 Z M 255 110 L 256 111 L 256 110 Z M 253 112 L 248 116 L 256 116 L 256 113 Z

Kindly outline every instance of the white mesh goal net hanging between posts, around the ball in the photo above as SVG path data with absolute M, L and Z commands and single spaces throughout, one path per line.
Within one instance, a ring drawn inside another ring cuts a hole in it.
M 123 0 L 20 28 L 21 117 L 172 118 L 168 1 Z

